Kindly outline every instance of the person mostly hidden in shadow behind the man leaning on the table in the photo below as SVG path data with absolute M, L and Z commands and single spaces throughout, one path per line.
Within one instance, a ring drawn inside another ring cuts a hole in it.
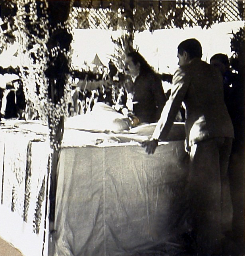
M 233 206 L 232 233 L 235 242 L 244 243 L 244 73 L 231 72 L 229 58 L 217 53 L 210 58 L 210 65 L 220 70 L 224 81 L 224 100 L 231 117 L 235 139 L 232 142 L 228 174 Z

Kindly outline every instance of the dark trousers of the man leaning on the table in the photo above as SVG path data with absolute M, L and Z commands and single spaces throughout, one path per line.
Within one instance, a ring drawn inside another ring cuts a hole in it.
M 231 146 L 232 138 L 219 137 L 198 142 L 190 149 L 190 217 L 199 254 L 220 254 L 224 232 L 231 229 Z

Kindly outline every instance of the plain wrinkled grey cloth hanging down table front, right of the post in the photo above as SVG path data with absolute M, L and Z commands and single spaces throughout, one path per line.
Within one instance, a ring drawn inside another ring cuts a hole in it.
M 147 155 L 132 140 L 62 149 L 55 256 L 155 253 L 183 231 L 187 183 L 183 140 L 163 143 L 154 155 Z

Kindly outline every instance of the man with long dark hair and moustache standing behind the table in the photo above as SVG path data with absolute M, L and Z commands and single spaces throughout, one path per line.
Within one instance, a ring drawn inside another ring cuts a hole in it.
M 127 54 L 124 70 L 132 79 L 126 88 L 129 112 L 141 123 L 157 122 L 167 100 L 160 78 L 136 51 Z

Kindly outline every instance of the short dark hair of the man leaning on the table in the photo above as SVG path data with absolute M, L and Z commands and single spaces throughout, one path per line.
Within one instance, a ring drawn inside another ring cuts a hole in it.
M 187 39 L 181 42 L 178 46 L 178 53 L 183 55 L 183 52 L 186 51 L 189 54 L 189 58 L 202 58 L 202 46 L 199 41 L 195 38 Z

